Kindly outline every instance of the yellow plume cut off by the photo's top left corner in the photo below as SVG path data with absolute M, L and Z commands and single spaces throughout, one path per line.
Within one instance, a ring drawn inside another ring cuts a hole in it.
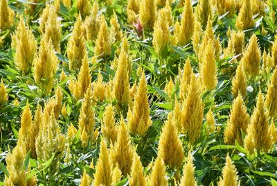
M 10 28 L 14 22 L 15 12 L 8 7 L 6 0 L 0 2 L 0 29 L 6 30 Z

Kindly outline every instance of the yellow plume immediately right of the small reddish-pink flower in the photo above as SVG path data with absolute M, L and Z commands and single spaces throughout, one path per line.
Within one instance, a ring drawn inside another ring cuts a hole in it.
M 159 10 L 157 21 L 154 23 L 152 40 L 153 47 L 158 54 L 161 54 L 161 51 L 163 51 L 170 39 L 169 25 L 166 22 L 168 15 L 166 11 L 162 10 Z

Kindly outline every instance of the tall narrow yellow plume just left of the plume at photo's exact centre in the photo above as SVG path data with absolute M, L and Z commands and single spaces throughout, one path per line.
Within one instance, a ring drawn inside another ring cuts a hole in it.
M 125 110 L 129 105 L 129 58 L 125 51 L 121 50 L 118 58 L 118 68 L 114 76 L 114 98 L 117 101 L 116 110 Z

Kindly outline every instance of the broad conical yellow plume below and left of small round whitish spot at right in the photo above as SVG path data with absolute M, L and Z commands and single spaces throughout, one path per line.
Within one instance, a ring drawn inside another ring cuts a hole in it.
M 235 144 L 235 140 L 237 140 L 239 144 L 242 144 L 242 132 L 246 134 L 248 126 L 249 115 L 243 103 L 242 95 L 239 93 L 233 101 L 229 121 L 224 130 L 224 142 Z

